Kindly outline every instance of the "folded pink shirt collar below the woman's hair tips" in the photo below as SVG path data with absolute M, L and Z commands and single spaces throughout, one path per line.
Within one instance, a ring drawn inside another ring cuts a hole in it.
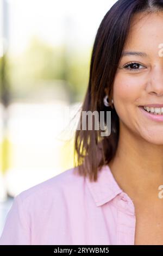
M 104 165 L 98 171 L 97 181 L 90 181 L 89 177 L 86 176 L 86 184 L 97 206 L 109 202 L 122 192 L 108 165 Z

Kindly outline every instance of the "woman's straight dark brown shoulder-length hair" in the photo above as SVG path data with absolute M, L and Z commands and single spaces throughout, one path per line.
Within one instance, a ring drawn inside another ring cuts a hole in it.
M 77 130 L 74 141 L 74 163 L 79 175 L 97 181 L 97 172 L 114 157 L 118 145 L 119 118 L 111 103 L 112 88 L 121 55 L 126 45 L 134 14 L 147 14 L 163 9 L 163 0 L 118 0 L 105 14 L 93 44 L 89 84 L 80 114 L 83 111 L 111 111 L 111 133 L 101 137 L 100 130 Z M 103 103 L 108 88 L 110 106 Z M 99 120 L 98 120 L 99 121 Z M 106 120 L 105 120 L 106 121 Z M 81 127 L 80 126 L 80 127 Z

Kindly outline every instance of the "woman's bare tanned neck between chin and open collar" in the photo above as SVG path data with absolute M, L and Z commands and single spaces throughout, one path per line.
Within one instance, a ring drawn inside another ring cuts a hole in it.
M 163 145 L 143 140 L 120 123 L 118 147 L 109 167 L 131 199 L 158 198 L 158 187 L 163 185 L 162 155 Z

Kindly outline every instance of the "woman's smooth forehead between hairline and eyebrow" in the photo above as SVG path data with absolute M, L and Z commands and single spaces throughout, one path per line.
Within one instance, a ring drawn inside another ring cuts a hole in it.
M 163 43 L 163 11 L 135 14 L 131 20 L 126 49 L 158 51 Z

